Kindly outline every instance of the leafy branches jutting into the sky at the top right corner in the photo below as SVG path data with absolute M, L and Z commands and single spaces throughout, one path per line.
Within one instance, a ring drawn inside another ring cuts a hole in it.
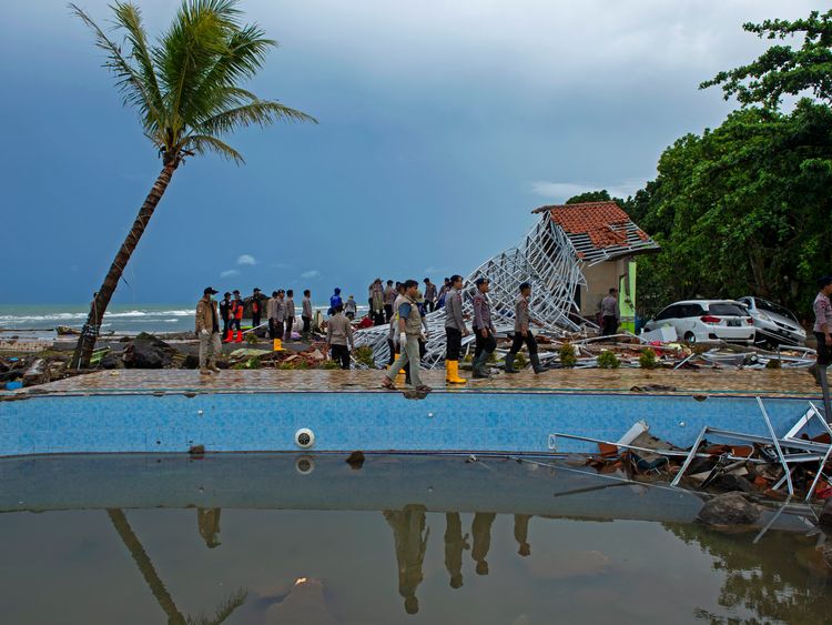
M 800 48 L 777 44 L 755 61 L 733 70 L 719 72 L 702 82 L 700 89 L 722 85 L 726 100 L 735 95 L 742 105 L 763 104 L 778 109 L 783 95 L 812 93 L 818 100 L 832 104 L 832 10 L 821 14 L 812 11 L 809 18 L 765 20 L 761 24 L 742 27 L 760 38 L 784 40 L 803 34 Z

